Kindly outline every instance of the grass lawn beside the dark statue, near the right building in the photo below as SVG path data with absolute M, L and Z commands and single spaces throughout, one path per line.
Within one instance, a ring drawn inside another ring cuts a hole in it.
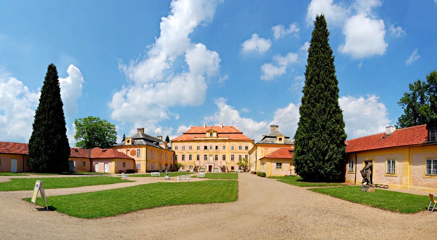
M 311 188 L 309 190 L 349 202 L 400 213 L 420 212 L 425 210 L 430 204 L 429 196 L 382 189 L 375 189 L 375 192 L 364 192 L 360 188 L 361 186 L 347 186 L 339 188 Z

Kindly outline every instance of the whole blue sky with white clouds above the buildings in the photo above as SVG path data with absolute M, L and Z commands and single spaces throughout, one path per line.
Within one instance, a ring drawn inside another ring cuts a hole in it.
M 437 2 L 150 0 L 0 3 L 0 141 L 27 143 L 49 63 L 73 122 L 144 127 L 238 125 L 294 136 L 316 14 L 330 31 L 348 139 L 402 114 L 408 84 L 437 70 Z

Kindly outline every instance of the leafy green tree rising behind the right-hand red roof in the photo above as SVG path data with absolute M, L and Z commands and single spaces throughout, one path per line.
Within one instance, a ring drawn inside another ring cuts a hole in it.
M 437 72 L 427 76 L 427 81 L 417 80 L 409 84 L 409 92 L 398 102 L 404 110 L 396 122 L 396 128 L 427 124 L 437 117 Z

